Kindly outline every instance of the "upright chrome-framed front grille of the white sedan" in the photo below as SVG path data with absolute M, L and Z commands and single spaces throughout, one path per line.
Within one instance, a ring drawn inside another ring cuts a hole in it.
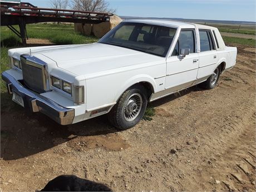
M 46 63 L 30 55 L 21 56 L 23 82 L 38 93 L 47 91 Z

